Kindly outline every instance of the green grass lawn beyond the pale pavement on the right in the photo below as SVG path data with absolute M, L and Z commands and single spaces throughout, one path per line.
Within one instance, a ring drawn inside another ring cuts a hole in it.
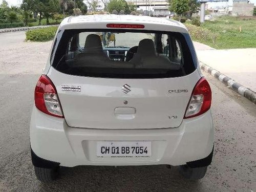
M 242 27 L 242 32 L 239 32 Z M 256 19 L 242 20 L 238 17 L 220 16 L 213 21 L 206 21 L 201 28 L 209 30 L 217 37 L 215 42 L 193 37 L 216 49 L 256 48 Z

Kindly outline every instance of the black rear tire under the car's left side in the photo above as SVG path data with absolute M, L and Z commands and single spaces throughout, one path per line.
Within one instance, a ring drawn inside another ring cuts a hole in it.
M 59 175 L 59 167 L 41 168 L 34 166 L 36 178 L 42 182 L 55 180 Z

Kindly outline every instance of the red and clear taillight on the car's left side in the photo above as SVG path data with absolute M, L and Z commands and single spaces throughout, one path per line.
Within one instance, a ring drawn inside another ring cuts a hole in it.
M 41 75 L 36 83 L 35 106 L 41 112 L 63 118 L 57 91 L 52 81 L 46 75 Z

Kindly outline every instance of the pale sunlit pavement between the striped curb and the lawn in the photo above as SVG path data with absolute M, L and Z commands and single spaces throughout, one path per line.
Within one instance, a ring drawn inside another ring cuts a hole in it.
M 216 50 L 195 42 L 198 59 L 246 88 L 256 91 L 256 49 Z

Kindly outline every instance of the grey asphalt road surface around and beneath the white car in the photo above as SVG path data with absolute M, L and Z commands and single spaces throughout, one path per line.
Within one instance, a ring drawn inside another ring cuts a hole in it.
M 51 42 L 24 39 L 24 32 L 0 34 L 0 191 L 256 191 L 256 106 L 211 76 L 215 151 L 202 180 L 154 165 L 61 168 L 58 180 L 39 182 L 30 160 L 29 120 Z

